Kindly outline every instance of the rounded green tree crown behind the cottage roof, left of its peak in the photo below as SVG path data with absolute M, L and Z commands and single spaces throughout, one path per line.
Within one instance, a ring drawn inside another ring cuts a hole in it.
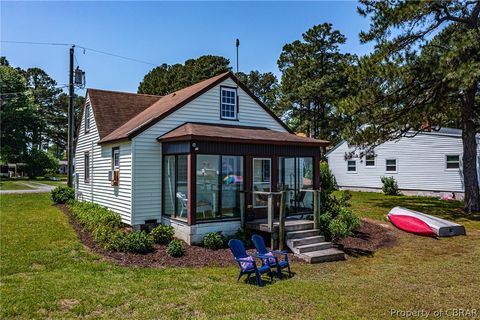
M 138 93 L 167 95 L 230 70 L 230 61 L 220 56 L 201 56 L 185 64 L 162 64 L 150 70 L 138 86 Z

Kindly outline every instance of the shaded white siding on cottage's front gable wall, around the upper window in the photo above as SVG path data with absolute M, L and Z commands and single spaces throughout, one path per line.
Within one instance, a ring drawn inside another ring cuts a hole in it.
M 221 86 L 236 87 L 236 83 L 231 79 L 226 79 L 133 138 L 134 225 L 143 224 L 145 220 L 149 219 L 157 219 L 158 221 L 160 219 L 162 150 L 161 144 L 156 139 L 185 122 L 232 125 L 231 120 L 220 118 Z M 235 125 L 267 127 L 276 131 L 286 131 L 241 88 L 237 89 L 237 94 L 239 112 L 237 114 L 238 121 L 234 123 Z

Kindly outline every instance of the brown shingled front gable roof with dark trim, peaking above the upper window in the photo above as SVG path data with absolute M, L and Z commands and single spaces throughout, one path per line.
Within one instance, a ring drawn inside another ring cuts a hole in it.
M 260 105 L 272 118 L 274 118 L 279 124 L 282 125 L 285 130 L 292 133 L 290 128 L 288 128 L 270 109 L 268 109 L 257 97 L 251 93 L 251 91 L 245 87 L 231 72 L 222 73 L 218 76 L 212 77 L 210 79 L 201 81 L 196 83 L 190 87 L 178 90 L 166 96 L 150 96 L 155 97 L 156 100 L 153 98 L 151 101 L 151 105 L 147 107 L 139 107 L 135 110 L 135 112 L 131 112 L 131 116 L 128 119 L 123 119 L 124 121 L 117 121 L 122 122 L 119 125 L 114 125 L 108 123 L 111 121 L 112 114 L 114 110 L 104 110 L 106 114 L 103 115 L 101 121 L 98 121 L 97 118 L 97 126 L 103 127 L 105 126 L 106 129 L 102 131 L 108 132 L 103 136 L 100 136 L 99 143 L 106 143 L 106 142 L 113 142 L 118 140 L 125 140 L 125 139 L 132 139 L 142 131 L 148 129 L 158 121 L 162 120 L 163 118 L 167 117 L 174 111 L 178 110 L 185 104 L 189 103 L 190 101 L 194 100 L 198 96 L 202 95 L 203 93 L 207 92 L 211 88 L 215 87 L 216 85 L 220 84 L 222 81 L 226 79 L 232 79 L 243 91 L 245 91 L 257 104 Z M 90 89 L 92 90 L 92 89 Z M 135 95 L 135 94 L 128 94 L 128 95 Z M 92 102 L 93 108 L 95 109 L 96 106 L 94 102 Z M 103 109 L 109 109 L 108 103 L 104 104 Z M 141 110 L 139 110 L 141 109 Z M 95 117 L 97 114 L 95 113 Z M 105 120 L 105 121 L 103 121 Z

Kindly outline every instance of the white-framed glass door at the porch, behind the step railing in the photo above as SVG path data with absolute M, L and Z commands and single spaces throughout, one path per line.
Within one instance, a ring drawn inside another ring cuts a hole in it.
M 271 192 L 272 190 L 272 159 L 253 158 L 252 190 Z M 264 194 L 253 195 L 254 208 L 266 208 L 268 196 Z

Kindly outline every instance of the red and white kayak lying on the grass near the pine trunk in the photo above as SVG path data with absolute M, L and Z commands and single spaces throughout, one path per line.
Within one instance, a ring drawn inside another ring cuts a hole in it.
M 393 208 L 387 217 L 397 228 L 422 236 L 449 237 L 465 234 L 462 225 L 402 207 Z

